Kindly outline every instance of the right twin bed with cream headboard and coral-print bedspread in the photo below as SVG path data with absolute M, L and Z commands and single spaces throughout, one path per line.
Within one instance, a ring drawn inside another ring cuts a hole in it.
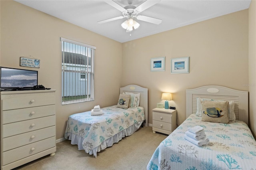
M 198 107 L 207 101 L 230 101 L 229 123 L 202 121 Z M 200 103 L 198 103 L 200 101 Z M 231 102 L 233 101 L 233 102 Z M 255 170 L 256 141 L 248 128 L 248 92 L 221 86 L 186 90 L 187 119 L 156 148 L 148 170 Z M 236 118 L 232 121 L 231 119 Z M 204 128 L 209 144 L 197 146 L 184 139 L 189 127 Z

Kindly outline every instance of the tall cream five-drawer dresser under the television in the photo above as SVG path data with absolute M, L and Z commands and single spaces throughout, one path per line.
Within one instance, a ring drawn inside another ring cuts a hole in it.
M 55 90 L 1 91 L 1 170 L 56 152 Z

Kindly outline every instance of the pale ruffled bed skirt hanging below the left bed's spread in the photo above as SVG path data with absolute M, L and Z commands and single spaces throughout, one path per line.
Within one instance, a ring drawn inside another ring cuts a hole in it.
M 138 122 L 120 132 L 118 132 L 117 134 L 115 134 L 114 136 L 106 139 L 105 141 L 103 141 L 100 146 L 93 148 L 92 150 L 90 150 L 88 152 L 88 154 L 90 155 L 94 155 L 95 158 L 97 157 L 97 152 L 100 152 L 101 150 L 106 149 L 107 147 L 112 146 L 114 143 L 119 142 L 119 140 L 121 140 L 122 138 L 124 138 L 125 136 L 130 136 L 132 135 L 134 132 L 136 132 L 136 130 L 138 130 L 140 128 L 140 126 L 142 125 L 144 121 Z M 71 140 L 71 144 L 77 144 L 78 145 L 78 150 L 84 150 L 83 148 L 83 141 L 84 138 L 82 138 L 81 136 L 78 136 L 76 134 L 72 134 L 70 132 L 68 132 L 68 140 Z

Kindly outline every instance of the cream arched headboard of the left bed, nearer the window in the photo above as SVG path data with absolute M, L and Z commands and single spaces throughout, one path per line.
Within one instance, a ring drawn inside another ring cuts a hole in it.
M 140 93 L 140 107 L 144 108 L 144 115 L 146 123 L 144 126 L 148 126 L 148 89 L 140 87 L 138 85 L 127 85 L 125 87 L 120 87 L 120 94 L 123 92 Z

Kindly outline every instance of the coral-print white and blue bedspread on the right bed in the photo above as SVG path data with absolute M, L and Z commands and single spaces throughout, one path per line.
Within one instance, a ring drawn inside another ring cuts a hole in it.
M 197 146 L 184 139 L 188 127 L 204 128 L 208 145 Z M 256 170 L 256 141 L 242 121 L 210 123 L 190 115 L 156 148 L 148 170 Z

